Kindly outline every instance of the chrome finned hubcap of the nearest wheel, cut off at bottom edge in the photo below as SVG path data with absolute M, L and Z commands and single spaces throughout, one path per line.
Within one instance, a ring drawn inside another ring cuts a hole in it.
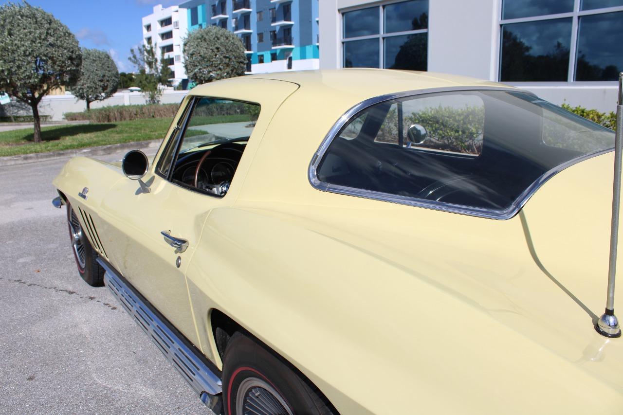
M 247 378 L 238 388 L 237 414 L 293 415 L 285 399 L 269 383 L 258 378 Z

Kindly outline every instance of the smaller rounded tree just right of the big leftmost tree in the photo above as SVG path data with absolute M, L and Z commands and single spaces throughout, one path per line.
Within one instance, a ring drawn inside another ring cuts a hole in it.
M 76 98 L 87 102 L 87 111 L 93 101 L 102 101 L 117 92 L 119 71 L 107 52 L 82 48 L 82 67 L 78 82 L 71 88 Z

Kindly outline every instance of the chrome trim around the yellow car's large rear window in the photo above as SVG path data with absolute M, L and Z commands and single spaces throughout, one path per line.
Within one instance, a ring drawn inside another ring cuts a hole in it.
M 521 207 L 531 198 L 535 192 L 543 186 L 549 179 L 568 168 L 569 166 L 573 166 L 580 161 L 587 160 L 594 156 L 599 156 L 602 154 L 609 153 L 610 151 L 614 151 L 614 147 L 607 148 L 605 150 L 594 151 L 593 153 L 587 153 L 585 155 L 578 156 L 572 160 L 566 161 L 565 163 L 558 165 L 552 169 L 549 169 L 545 173 L 543 173 L 538 179 L 536 179 L 528 188 L 526 188 L 523 193 L 518 196 L 518 198 L 510 204 L 506 209 L 485 209 L 481 207 L 472 207 L 472 206 L 463 206 L 459 204 L 452 203 L 444 203 L 437 201 L 429 201 L 426 199 L 419 198 L 411 198 L 407 196 L 399 196 L 391 193 L 383 193 L 378 191 L 366 190 L 366 189 L 358 189 L 351 188 L 350 186 L 340 186 L 337 184 L 330 184 L 321 181 L 318 179 L 318 175 L 316 174 L 316 170 L 318 165 L 320 165 L 320 161 L 325 155 L 326 150 L 331 145 L 331 141 L 337 137 L 341 128 L 346 125 L 346 123 L 350 122 L 359 112 L 362 110 L 371 107 L 372 105 L 386 102 L 389 100 L 394 100 L 397 98 L 405 98 L 405 97 L 415 97 L 417 95 L 427 95 L 429 93 L 437 93 L 437 92 L 462 92 L 462 91 L 506 91 L 506 92 L 523 92 L 528 93 L 536 97 L 536 95 L 530 91 L 522 90 L 520 88 L 505 88 L 505 87 L 444 87 L 444 88 L 427 88 L 421 90 L 412 90 L 405 92 L 397 92 L 397 93 L 389 93 L 387 95 L 380 95 L 378 97 L 368 98 L 354 107 L 350 108 L 350 110 L 346 111 L 338 121 L 333 124 L 329 132 L 326 134 L 323 139 L 320 147 L 314 153 L 312 157 L 312 161 L 310 161 L 310 165 L 308 168 L 308 179 L 310 184 L 312 184 L 313 188 L 318 189 L 320 191 L 326 191 L 337 194 L 345 194 L 347 196 L 357 196 L 360 198 L 366 199 L 374 199 L 384 202 L 390 203 L 398 203 L 398 204 L 406 204 L 407 206 L 416 206 L 416 207 L 424 207 L 426 209 L 434 209 L 436 211 L 444 211 L 451 213 L 459 213 L 470 216 L 484 217 L 487 219 L 498 219 L 498 220 L 506 220 L 515 216 L 517 212 L 520 211 Z

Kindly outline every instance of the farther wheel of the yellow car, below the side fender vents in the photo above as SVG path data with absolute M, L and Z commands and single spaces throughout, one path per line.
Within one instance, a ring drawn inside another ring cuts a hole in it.
M 102 287 L 104 285 L 104 269 L 97 263 L 97 252 L 88 242 L 74 207 L 69 202 L 67 202 L 67 224 L 78 274 L 88 285 Z

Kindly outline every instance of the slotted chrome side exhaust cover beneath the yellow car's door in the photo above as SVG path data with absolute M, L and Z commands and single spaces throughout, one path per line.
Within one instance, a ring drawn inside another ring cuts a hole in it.
M 151 306 L 143 302 L 140 295 L 125 283 L 113 267 L 102 258 L 97 262 L 106 271 L 104 283 L 119 300 L 126 312 L 136 320 L 151 340 L 158 346 L 164 357 L 182 375 L 197 395 L 202 393 L 217 395 L 222 392 L 221 378 L 212 371 L 196 351 L 191 350 L 183 340 L 155 313 Z

